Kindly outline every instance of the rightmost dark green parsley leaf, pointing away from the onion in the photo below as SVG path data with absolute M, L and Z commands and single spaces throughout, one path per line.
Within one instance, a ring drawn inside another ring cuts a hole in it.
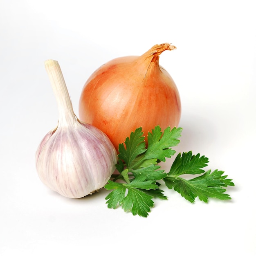
M 192 152 L 183 153 L 182 157 L 179 153 L 171 166 L 170 172 L 164 178 L 164 182 L 168 189 L 174 189 L 190 202 L 195 202 L 198 197 L 201 201 L 208 202 L 208 198 L 218 198 L 221 200 L 231 199 L 225 194 L 226 189 L 222 187 L 234 186 L 230 179 L 226 179 L 227 175 L 223 175 L 224 171 L 211 170 L 204 172 L 201 168 L 207 166 L 208 158 L 200 157 L 199 154 L 192 155 Z M 201 174 L 191 180 L 180 177 L 182 174 Z

